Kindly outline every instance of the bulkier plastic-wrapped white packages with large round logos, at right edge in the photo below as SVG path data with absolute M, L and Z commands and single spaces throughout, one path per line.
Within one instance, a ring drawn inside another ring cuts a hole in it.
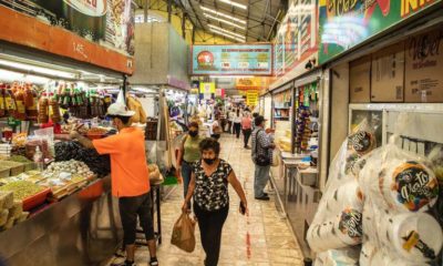
M 378 249 L 369 265 L 424 265 L 443 245 L 439 222 L 424 213 L 437 201 L 437 178 L 430 161 L 392 143 L 363 157 L 359 173 L 364 239 Z

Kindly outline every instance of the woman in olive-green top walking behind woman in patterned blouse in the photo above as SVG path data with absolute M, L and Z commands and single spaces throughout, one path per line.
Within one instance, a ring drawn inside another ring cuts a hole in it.
M 200 160 L 199 144 L 204 140 L 204 137 L 198 135 L 198 123 L 192 122 L 188 127 L 188 134 L 183 137 L 177 156 L 177 171 L 183 178 L 184 197 L 187 195 L 194 164 Z M 188 211 L 190 211 L 190 205 Z

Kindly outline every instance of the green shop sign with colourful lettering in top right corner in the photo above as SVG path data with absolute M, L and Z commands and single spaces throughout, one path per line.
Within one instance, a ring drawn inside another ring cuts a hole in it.
M 441 0 L 320 0 L 319 61 L 324 63 Z

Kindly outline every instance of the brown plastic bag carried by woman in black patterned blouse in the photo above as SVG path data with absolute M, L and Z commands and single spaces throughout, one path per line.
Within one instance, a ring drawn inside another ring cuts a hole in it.
M 188 214 L 183 213 L 173 228 L 171 244 L 179 249 L 192 253 L 195 249 L 195 221 Z

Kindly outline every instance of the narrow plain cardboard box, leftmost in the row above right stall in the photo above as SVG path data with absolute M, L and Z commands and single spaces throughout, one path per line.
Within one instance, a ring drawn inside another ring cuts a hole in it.
M 349 98 L 351 103 L 371 102 L 371 57 L 349 63 Z

